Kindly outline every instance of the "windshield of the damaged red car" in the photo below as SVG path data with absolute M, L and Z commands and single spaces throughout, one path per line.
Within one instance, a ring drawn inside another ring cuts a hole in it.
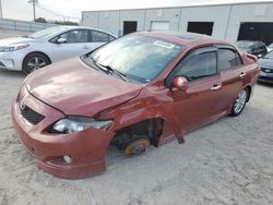
M 92 52 L 90 58 L 145 83 L 155 79 L 181 48 L 153 37 L 128 35 Z

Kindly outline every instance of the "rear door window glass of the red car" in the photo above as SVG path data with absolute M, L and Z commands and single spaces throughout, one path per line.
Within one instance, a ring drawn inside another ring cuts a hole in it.
M 237 51 L 232 49 L 219 48 L 218 49 L 218 71 L 225 71 L 227 69 L 238 67 L 241 64 L 240 56 Z

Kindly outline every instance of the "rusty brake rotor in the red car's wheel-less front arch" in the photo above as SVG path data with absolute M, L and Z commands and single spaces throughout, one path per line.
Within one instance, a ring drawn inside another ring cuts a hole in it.
M 141 155 L 150 146 L 150 141 L 147 138 L 139 138 L 126 146 L 126 155 Z

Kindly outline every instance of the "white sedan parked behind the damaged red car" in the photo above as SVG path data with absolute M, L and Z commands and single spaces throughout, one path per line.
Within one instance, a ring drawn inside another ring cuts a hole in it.
M 52 62 L 87 53 L 116 36 L 82 26 L 57 26 L 0 40 L 0 69 L 28 74 Z

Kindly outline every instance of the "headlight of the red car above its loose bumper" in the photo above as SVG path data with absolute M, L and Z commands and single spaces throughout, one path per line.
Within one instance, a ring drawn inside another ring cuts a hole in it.
M 98 121 L 94 118 L 68 117 L 56 122 L 51 128 L 51 132 L 68 134 L 72 132 L 80 132 L 90 128 L 107 130 L 111 124 L 112 120 Z

